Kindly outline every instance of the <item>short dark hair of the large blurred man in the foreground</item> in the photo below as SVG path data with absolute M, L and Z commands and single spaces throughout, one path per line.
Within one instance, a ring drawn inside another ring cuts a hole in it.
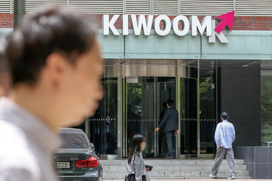
M 34 84 L 51 53 L 60 53 L 75 64 L 95 41 L 96 23 L 76 10 L 52 8 L 23 21 L 7 43 L 13 85 Z

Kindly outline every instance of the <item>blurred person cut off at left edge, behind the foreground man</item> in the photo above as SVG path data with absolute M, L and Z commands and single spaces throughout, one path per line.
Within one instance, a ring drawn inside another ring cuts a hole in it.
M 5 45 L 5 37 L 0 37 L 0 97 L 8 95 L 11 81 L 9 68 L 4 58 Z

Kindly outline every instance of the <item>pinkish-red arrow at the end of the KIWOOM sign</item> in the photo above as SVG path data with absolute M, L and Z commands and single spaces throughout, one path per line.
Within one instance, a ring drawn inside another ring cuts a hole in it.
M 232 30 L 233 18 L 235 11 L 216 16 L 214 19 L 220 21 L 217 27 L 214 29 L 217 33 L 220 33 L 225 27 L 227 30 Z

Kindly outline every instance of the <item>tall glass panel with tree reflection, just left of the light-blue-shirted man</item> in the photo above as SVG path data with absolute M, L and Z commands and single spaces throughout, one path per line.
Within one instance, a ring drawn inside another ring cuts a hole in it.
M 200 153 L 215 153 L 216 81 L 214 75 L 214 69 L 200 70 Z

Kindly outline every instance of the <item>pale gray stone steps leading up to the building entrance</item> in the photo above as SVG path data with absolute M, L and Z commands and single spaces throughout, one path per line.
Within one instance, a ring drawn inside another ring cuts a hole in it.
M 103 167 L 103 179 L 123 179 L 127 175 L 126 160 L 100 160 Z M 149 172 L 151 179 L 207 179 L 214 160 L 166 160 L 145 159 L 147 165 L 153 165 Z M 251 179 L 243 160 L 235 160 L 235 174 L 238 179 Z M 223 160 L 218 171 L 219 179 L 229 177 L 229 168 Z

